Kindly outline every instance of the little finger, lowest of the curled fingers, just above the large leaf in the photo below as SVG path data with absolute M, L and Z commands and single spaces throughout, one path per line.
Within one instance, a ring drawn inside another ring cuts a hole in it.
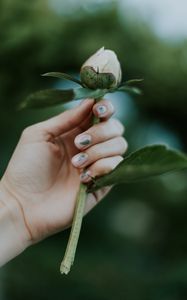
M 114 170 L 119 163 L 123 161 L 123 157 L 120 155 L 102 158 L 80 174 L 80 180 L 87 183 L 92 180 L 92 178 L 103 176 Z

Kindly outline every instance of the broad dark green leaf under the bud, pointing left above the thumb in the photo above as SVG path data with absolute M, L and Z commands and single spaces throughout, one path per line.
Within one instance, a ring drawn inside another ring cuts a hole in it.
M 74 90 L 42 90 L 29 95 L 24 102 L 19 105 L 19 109 L 24 108 L 45 108 L 55 106 L 74 100 Z

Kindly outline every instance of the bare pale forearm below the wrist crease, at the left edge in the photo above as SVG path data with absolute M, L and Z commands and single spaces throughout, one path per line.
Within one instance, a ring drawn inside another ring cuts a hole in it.
M 0 182 L 0 266 L 23 252 L 28 245 L 20 207 Z

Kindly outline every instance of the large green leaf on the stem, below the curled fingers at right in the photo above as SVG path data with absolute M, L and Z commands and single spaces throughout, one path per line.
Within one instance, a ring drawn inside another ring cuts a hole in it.
M 95 179 L 88 188 L 133 182 L 187 168 L 187 156 L 164 145 L 147 146 L 126 157 L 111 173 Z

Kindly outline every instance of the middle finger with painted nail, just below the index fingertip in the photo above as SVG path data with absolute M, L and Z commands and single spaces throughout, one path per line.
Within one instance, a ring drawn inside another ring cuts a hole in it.
M 74 143 L 80 150 L 85 150 L 90 146 L 107 141 L 124 132 L 123 125 L 117 119 L 110 119 L 93 125 L 85 132 L 76 136 Z

